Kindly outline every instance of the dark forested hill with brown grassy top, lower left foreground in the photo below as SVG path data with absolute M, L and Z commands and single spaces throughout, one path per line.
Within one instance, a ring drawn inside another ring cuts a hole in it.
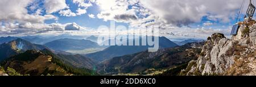
M 71 76 L 92 75 L 93 71 L 86 68 L 75 68 L 66 64 L 48 49 L 41 51 L 28 50 L 12 56 L 1 63 L 3 67 L 14 69 L 23 75 L 40 76 Z M 11 74 L 11 73 L 9 73 Z

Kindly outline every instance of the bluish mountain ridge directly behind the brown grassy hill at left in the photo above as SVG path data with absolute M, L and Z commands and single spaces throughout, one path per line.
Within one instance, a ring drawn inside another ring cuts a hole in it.
M 40 51 L 42 49 L 47 49 L 52 52 L 52 55 L 60 57 L 65 63 L 72 65 L 73 67 L 88 68 L 92 69 L 96 64 L 96 61 L 84 57 L 81 55 L 73 55 L 72 53 L 64 51 L 54 51 L 44 45 L 32 44 L 23 39 L 16 39 L 9 43 L 3 43 L 0 45 L 0 61 L 8 59 L 11 56 L 19 55 L 20 53 L 26 52 L 28 50 Z

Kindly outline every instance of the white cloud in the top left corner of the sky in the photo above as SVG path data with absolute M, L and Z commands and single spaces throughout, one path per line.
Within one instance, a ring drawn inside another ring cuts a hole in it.
M 53 15 L 28 14 L 26 7 L 32 0 L 2 0 L 0 2 L 0 21 L 43 23 L 44 20 L 57 19 Z

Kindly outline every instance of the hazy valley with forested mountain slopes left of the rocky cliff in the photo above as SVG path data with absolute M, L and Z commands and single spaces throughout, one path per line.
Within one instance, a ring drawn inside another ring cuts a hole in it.
M 3 71 L 10 69 L 18 75 L 31 76 L 153 76 L 196 59 L 203 44 L 195 42 L 178 46 L 160 37 L 159 51 L 147 52 L 149 45 L 101 47 L 90 40 L 66 38 L 52 40 L 44 46 L 10 36 L 1 39 Z

